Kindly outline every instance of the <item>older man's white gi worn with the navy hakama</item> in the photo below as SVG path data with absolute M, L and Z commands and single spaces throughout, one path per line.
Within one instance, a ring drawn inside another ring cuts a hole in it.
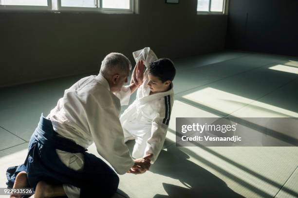
M 120 100 L 119 100 L 120 99 Z M 63 98 L 47 116 L 54 130 L 83 148 L 93 142 L 97 152 L 118 174 L 126 173 L 134 162 L 124 144 L 119 121 L 120 103 L 128 104 L 130 88 L 123 86 L 119 93 L 110 92 L 108 81 L 101 75 L 89 76 L 65 90 Z M 84 166 L 82 153 L 69 153 L 56 149 L 60 160 L 74 170 Z M 68 198 L 79 198 L 80 188 L 63 184 Z

